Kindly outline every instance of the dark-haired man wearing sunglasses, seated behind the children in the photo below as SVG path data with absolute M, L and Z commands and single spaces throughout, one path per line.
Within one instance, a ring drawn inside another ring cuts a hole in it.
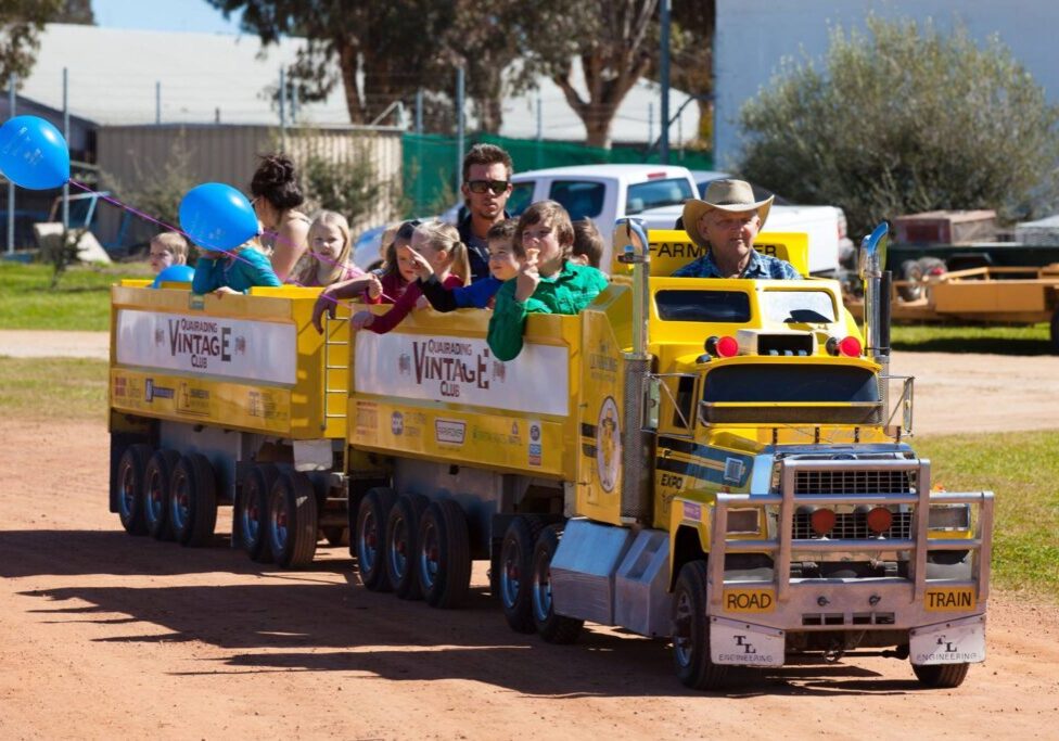
M 511 195 L 511 155 L 495 144 L 475 144 L 463 157 L 463 204 L 467 214 L 457 229 L 468 246 L 471 278 L 489 274 L 489 228 L 508 218 L 503 207 Z

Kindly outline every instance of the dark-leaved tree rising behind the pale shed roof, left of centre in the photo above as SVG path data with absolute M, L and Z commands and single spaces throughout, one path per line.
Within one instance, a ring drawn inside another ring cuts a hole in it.
M 207 0 L 264 46 L 307 39 L 292 73 L 302 100 L 322 100 L 341 81 L 349 120 L 369 124 L 397 100 L 410 100 L 442 63 L 436 43 L 451 25 L 451 2 L 431 0 Z M 362 80 L 362 87 L 359 82 Z

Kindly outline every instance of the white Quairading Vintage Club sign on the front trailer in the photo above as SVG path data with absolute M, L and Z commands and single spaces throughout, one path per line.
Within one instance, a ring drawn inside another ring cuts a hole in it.
M 425 401 L 566 414 L 565 347 L 526 344 L 514 360 L 493 357 L 485 340 L 357 332 L 354 387 Z

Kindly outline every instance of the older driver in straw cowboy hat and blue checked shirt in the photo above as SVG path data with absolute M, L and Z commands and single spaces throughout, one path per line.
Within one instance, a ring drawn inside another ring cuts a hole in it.
M 702 201 L 684 204 L 681 221 L 688 237 L 706 254 L 673 273 L 676 278 L 789 278 L 801 276 L 794 266 L 754 250 L 773 205 L 769 195 L 754 200 L 744 180 L 714 180 Z

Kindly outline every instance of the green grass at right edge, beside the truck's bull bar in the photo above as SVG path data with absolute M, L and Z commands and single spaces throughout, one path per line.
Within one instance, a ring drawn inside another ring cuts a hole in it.
M 916 438 L 933 484 L 995 495 L 997 586 L 1059 600 L 1059 431 Z

